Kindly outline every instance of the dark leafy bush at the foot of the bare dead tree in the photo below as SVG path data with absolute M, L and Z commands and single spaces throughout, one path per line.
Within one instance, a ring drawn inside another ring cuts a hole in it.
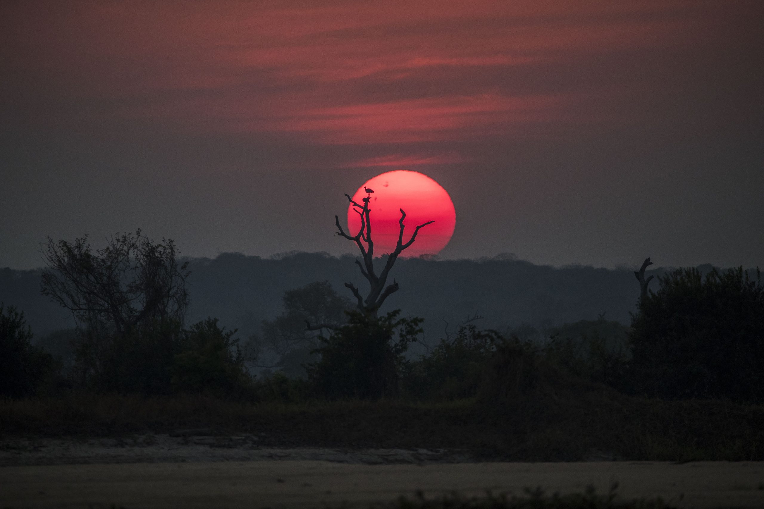
M 397 395 L 403 353 L 422 333 L 421 318 L 398 318 L 400 310 L 382 317 L 348 311 L 348 323 L 328 338 L 318 362 L 307 367 L 309 380 L 327 398 L 369 398 Z

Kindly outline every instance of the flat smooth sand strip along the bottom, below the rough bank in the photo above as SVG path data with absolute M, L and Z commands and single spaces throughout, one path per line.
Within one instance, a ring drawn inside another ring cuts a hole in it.
M 680 507 L 764 507 L 756 462 L 433 463 L 325 461 L 132 463 L 0 468 L 2 507 L 324 507 L 486 489 L 522 493 L 607 491 L 661 496 Z

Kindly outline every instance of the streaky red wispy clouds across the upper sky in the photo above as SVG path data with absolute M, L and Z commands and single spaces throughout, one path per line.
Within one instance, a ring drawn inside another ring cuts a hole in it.
M 621 121 L 607 108 L 571 114 L 581 97 L 631 86 L 607 73 L 588 79 L 588 63 L 691 44 L 702 21 L 680 1 L 55 5 L 20 7 L 15 53 L 2 56 L 77 105 L 78 118 L 332 146 L 400 143 L 407 165 L 458 159 L 421 158 L 417 143 L 452 143 L 458 153 L 453 143 L 526 136 L 542 124 Z M 393 165 L 380 150 L 364 164 Z

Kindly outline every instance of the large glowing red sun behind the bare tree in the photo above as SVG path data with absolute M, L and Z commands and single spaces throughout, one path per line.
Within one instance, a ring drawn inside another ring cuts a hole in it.
M 456 211 L 448 192 L 434 180 L 419 172 L 397 169 L 368 180 L 358 188 L 353 200 L 363 203 L 364 188 L 374 190 L 371 195 L 371 239 L 374 253 L 392 253 L 398 241 L 400 209 L 406 211 L 403 221 L 403 242 L 407 242 L 417 225 L 435 221 L 419 230 L 414 243 L 401 256 L 437 254 L 451 240 L 456 226 Z M 348 206 L 348 229 L 358 233 L 361 217 Z

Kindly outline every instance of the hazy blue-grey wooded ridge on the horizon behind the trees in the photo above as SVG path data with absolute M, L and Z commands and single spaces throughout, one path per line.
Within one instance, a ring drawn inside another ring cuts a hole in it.
M 241 335 L 256 332 L 262 320 L 280 313 L 285 290 L 325 279 L 348 297 L 344 282 L 365 288 L 350 255 L 296 252 L 261 258 L 222 253 L 214 259 L 186 260 L 191 270 L 189 321 L 219 317 Z M 400 308 L 404 314 L 425 318 L 430 341 L 442 337 L 446 324 L 455 330 L 476 312 L 484 317 L 480 327 L 555 327 L 594 320 L 602 313 L 608 320 L 628 324 L 639 296 L 632 271 L 539 266 L 510 254 L 458 260 L 404 258 L 392 272 L 400 291 L 387 299 L 382 311 Z M 73 324 L 66 310 L 40 295 L 40 269 L 0 269 L 0 301 L 24 311 L 37 337 Z

